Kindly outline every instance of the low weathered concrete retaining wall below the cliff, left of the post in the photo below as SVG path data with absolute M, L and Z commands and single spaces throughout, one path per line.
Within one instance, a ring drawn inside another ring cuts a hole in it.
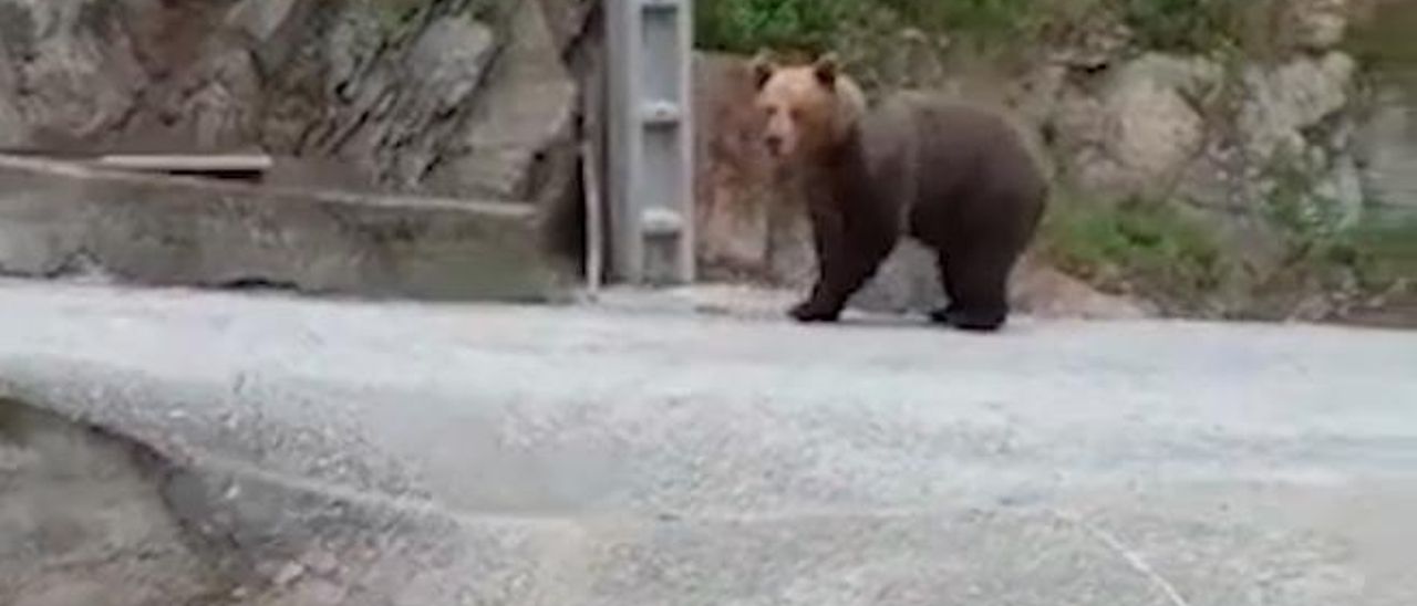
M 0 272 L 558 300 L 534 205 L 269 190 L 0 159 Z

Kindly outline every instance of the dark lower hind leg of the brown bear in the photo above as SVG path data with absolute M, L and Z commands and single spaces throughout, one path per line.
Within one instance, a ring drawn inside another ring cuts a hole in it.
M 964 251 L 941 253 L 939 279 L 949 303 L 931 321 L 971 331 L 999 330 L 1009 317 L 1009 273 L 1016 255 Z

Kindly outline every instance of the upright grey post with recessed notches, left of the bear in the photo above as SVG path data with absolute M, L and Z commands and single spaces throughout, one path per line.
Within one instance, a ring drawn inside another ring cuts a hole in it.
M 691 0 L 605 0 L 612 273 L 694 279 Z

